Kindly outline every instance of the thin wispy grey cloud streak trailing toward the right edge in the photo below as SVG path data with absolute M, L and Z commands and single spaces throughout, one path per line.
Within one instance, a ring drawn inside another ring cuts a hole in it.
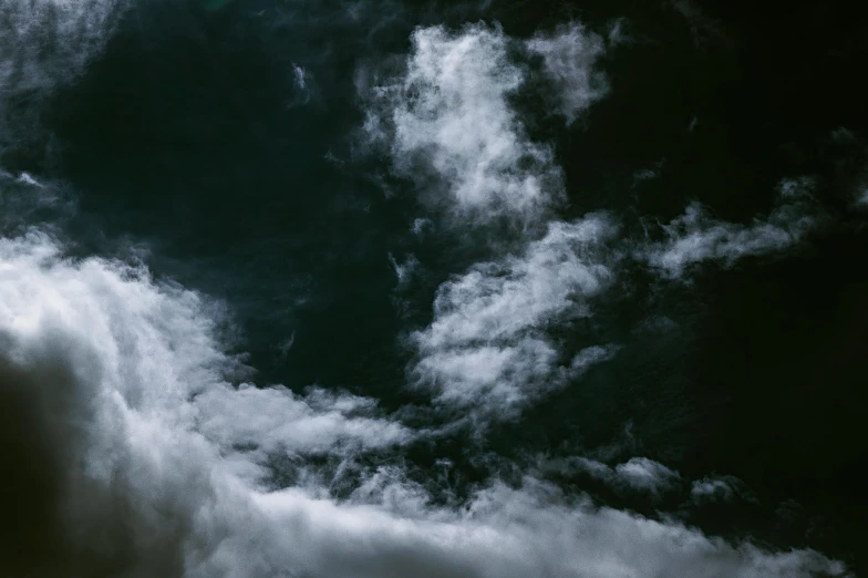
M 684 215 L 662 226 L 665 240 L 644 246 L 637 257 L 663 277 L 678 279 L 700 262 L 732 267 L 744 257 L 783 251 L 822 220 L 820 215 L 812 213 L 812 187 L 813 180 L 807 177 L 783 180 L 768 217 L 756 218 L 747 226 L 716 220 L 702 205 L 692 203 Z

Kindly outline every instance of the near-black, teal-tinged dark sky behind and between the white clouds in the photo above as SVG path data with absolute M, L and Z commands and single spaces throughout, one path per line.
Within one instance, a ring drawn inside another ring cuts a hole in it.
M 13 2 L 0 0 L 7 22 Z M 409 427 L 444 427 L 356 464 L 401 464 L 409 479 L 438 488 L 435 503 L 462 503 L 492 478 L 517 484 L 540 456 L 609 466 L 647 457 L 681 476 L 661 502 L 588 472 L 551 479 L 598 504 L 678 513 L 712 535 L 815 548 L 864 571 L 868 19 L 855 3 L 161 0 L 110 18 L 104 47 L 69 75 L 53 64 L 71 59 L 66 37 L 52 35 L 60 14 L 0 40 L 3 65 L 24 71 L 4 73 L 0 92 L 6 237 L 38 224 L 74 258 L 143 255 L 156 279 L 223 301 L 224 347 L 246 352 L 257 384 L 345 390 Z M 597 65 L 609 89 L 565 125 L 544 61 L 520 42 L 570 21 L 606 39 Z M 362 130 L 373 110 L 365 82 L 405 73 L 413 30 L 467 22 L 498 22 L 512 39 L 508 58 L 526 82 L 505 102 L 523 137 L 546 143 L 560 167 L 565 202 L 539 230 L 608 211 L 621 240 L 607 247 L 626 255 L 592 316 L 552 313 L 528 329 L 560 355 L 614 343 L 613 360 L 482 433 L 465 410 L 444 410 L 409 383 L 424 355 L 407 334 L 438 319 L 432 305 L 450 280 L 525 255 L 541 234 L 508 219 L 450 223 L 417 194 L 414 178 L 434 165 L 402 174 L 396 148 L 372 146 Z M 32 70 L 49 81 L 28 84 Z M 13 177 L 23 173 L 74 209 L 20 202 L 24 185 Z M 754 230 L 778 206 L 778 184 L 803 176 L 813 179 L 816 223 L 785 251 L 707 258 L 678 280 L 638 257 L 691 203 L 714 223 Z M 411 231 L 423 216 L 427 236 Z M 390 256 L 411 254 L 421 265 L 397 290 Z M 661 319 L 674 329 L 648 330 Z M 4 383 L 3 396 L 27 405 L 16 388 L 31 378 L 18 371 L 3 370 L 17 384 Z M 2 432 L 12 462 L 42 451 L 17 441 L 27 430 L 14 422 Z M 275 458 L 273 483 L 297 479 L 296 458 Z M 310 460 L 341 475 L 334 455 Z M 443 460 L 454 467 L 437 485 Z M 754 497 L 684 506 L 686 481 L 712 475 L 737 477 Z M 8 494 L 32 493 L 38 514 L 61 492 L 13 482 Z M 330 492 L 343 498 L 359 479 L 344 482 Z M 45 527 L 51 516 L 40 517 Z M 29 576 L 25 566 L 11 567 Z

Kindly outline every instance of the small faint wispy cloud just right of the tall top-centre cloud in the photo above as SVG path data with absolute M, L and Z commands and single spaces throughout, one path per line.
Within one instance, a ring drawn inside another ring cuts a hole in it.
M 558 91 L 560 113 L 567 124 L 609 91 L 606 75 L 595 70 L 606 52 L 603 40 L 580 23 L 561 24 L 552 33 L 537 33 L 526 45 L 542 56 L 545 73 Z

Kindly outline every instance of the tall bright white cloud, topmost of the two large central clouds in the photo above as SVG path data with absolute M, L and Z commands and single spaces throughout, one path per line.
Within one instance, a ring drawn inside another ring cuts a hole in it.
M 484 25 L 420 28 L 404 73 L 371 91 L 365 132 L 390 149 L 425 198 L 478 219 L 534 219 L 562 196 L 549 147 L 534 143 L 509 104 L 525 70 L 510 39 Z M 436 185 L 431 186 L 432 180 Z

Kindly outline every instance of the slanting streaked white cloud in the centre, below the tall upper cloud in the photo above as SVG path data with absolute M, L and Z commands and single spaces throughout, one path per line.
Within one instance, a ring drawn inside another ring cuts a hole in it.
M 436 401 L 476 414 L 514 411 L 608 359 L 611 345 L 591 345 L 565 359 L 546 334 L 555 323 L 590 314 L 588 298 L 613 279 L 606 248 L 617 226 L 591 215 L 551 223 L 518 256 L 477 264 L 443 283 L 431 324 L 411 336 L 418 352 L 413 374 Z

